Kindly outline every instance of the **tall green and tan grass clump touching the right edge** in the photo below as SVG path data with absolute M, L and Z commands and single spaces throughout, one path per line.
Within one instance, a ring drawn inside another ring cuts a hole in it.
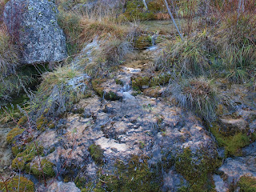
M 248 82 L 256 66 L 256 18 L 230 14 L 220 23 L 215 37 L 221 47 L 222 68 L 232 82 Z

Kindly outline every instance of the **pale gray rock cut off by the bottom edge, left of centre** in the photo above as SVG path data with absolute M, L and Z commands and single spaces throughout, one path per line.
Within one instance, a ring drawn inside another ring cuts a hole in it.
M 74 182 L 53 182 L 48 190 L 48 192 L 80 192 L 81 190 L 75 186 Z

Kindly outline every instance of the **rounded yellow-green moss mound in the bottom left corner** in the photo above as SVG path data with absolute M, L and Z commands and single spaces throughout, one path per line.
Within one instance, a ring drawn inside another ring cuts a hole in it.
M 10 181 L 6 182 L 6 185 L 3 182 L 0 182 L 0 191 L 6 192 L 6 186 L 9 192 L 34 192 L 34 183 L 23 177 L 15 176 L 14 178 L 11 178 Z

